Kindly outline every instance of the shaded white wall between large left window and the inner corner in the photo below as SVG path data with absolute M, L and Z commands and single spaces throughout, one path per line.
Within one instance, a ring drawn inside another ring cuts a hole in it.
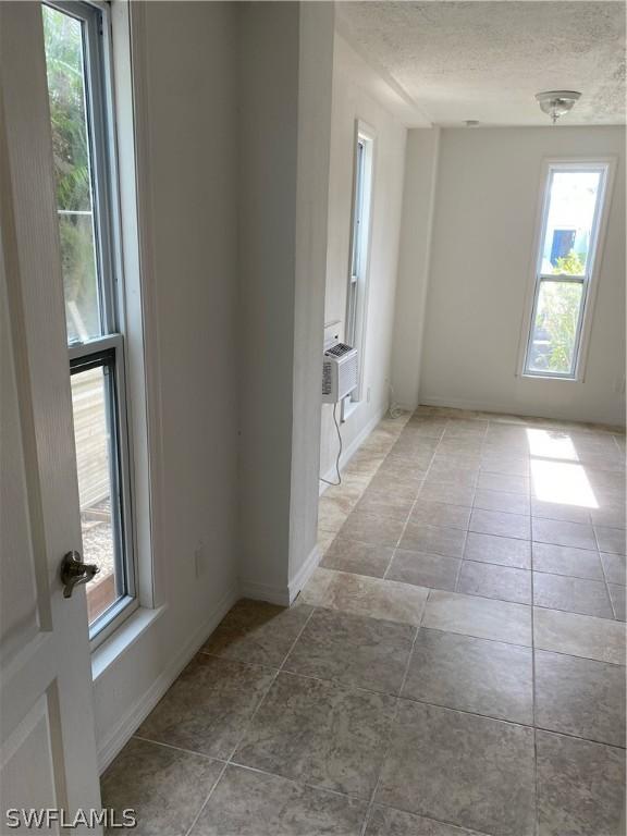
M 149 131 L 153 270 L 145 281 L 157 300 L 159 346 L 149 351 L 160 355 L 153 514 L 164 606 L 112 664 L 96 662 L 101 763 L 236 597 L 236 10 L 143 7 L 147 86 L 137 103 Z

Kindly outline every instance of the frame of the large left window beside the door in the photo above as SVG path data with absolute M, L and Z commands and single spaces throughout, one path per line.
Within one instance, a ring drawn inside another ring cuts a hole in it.
M 93 181 L 95 249 L 98 271 L 99 319 L 102 331 L 84 342 L 67 345 L 70 372 L 87 367 L 104 355 L 112 357 L 114 392 L 110 404 L 115 419 L 111 434 L 111 454 L 115 458 L 115 479 L 120 494 L 121 529 L 115 555 L 118 571 L 122 567 L 125 593 L 89 625 L 91 650 L 96 650 L 139 606 L 137 593 L 136 543 L 132 484 L 132 440 L 130 404 L 126 386 L 125 305 L 122 267 L 122 226 L 116 159 L 116 125 L 113 101 L 113 56 L 111 44 L 111 9 L 109 3 L 87 0 L 42 0 L 63 14 L 83 23 L 84 76 L 87 106 L 88 140 Z M 113 496 L 112 504 L 113 504 Z

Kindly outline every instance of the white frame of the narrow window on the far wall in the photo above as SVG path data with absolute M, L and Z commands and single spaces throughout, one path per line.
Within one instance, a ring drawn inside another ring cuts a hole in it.
M 581 383 L 585 381 L 593 309 L 599 286 L 599 273 L 603 259 L 603 248 L 607 228 L 607 218 L 612 200 L 612 189 L 616 167 L 615 157 L 586 158 L 546 158 L 543 160 L 539 189 L 539 205 L 536 219 L 532 268 L 522 320 L 518 373 L 527 380 L 554 380 Z M 546 235 L 546 223 L 551 205 L 551 184 L 554 173 L 558 172 L 600 172 L 599 192 L 594 217 L 590 230 L 589 256 L 582 275 L 568 273 L 542 273 L 542 253 Z M 574 362 L 569 373 L 550 370 L 534 371 L 528 368 L 533 336 L 533 323 L 538 298 L 545 282 L 573 283 L 581 285 L 581 304 L 577 322 L 574 346 Z

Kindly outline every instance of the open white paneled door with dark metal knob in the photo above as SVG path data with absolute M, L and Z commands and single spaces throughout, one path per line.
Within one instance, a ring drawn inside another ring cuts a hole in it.
M 100 804 L 41 10 L 0 2 L 0 833 Z M 11 814 L 13 815 L 13 814 Z M 79 827 L 78 832 L 84 831 Z M 89 831 L 98 833 L 99 828 Z

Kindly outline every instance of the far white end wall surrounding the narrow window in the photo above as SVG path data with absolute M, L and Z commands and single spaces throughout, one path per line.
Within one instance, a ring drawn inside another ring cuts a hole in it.
M 409 172 L 421 164 L 419 147 L 410 148 Z M 518 347 L 542 159 L 594 155 L 614 155 L 619 165 L 585 380 L 521 378 Z M 624 182 L 622 127 L 442 131 L 421 359 L 396 355 L 398 377 L 419 364 L 420 403 L 624 422 Z M 421 316 L 418 305 L 415 315 Z

